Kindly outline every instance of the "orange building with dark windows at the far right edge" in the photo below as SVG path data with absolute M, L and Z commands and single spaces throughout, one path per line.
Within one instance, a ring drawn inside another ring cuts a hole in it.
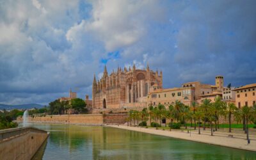
M 236 92 L 236 106 L 253 106 L 256 101 L 256 83 L 247 84 L 233 90 Z

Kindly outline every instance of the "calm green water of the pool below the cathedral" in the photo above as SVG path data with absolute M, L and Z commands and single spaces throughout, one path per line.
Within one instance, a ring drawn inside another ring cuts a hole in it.
M 51 132 L 34 159 L 256 159 L 255 152 L 111 127 L 33 126 Z

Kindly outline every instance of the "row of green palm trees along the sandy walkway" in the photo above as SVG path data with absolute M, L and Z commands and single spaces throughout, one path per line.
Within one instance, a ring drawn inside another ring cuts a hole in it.
M 244 106 L 243 108 L 237 108 L 234 103 L 229 103 L 221 101 L 221 97 L 216 97 L 214 102 L 210 99 L 202 100 L 201 104 L 193 102 L 191 106 L 187 106 L 176 100 L 174 104 L 166 108 L 163 104 L 158 106 L 148 106 L 142 111 L 131 110 L 129 111 L 129 116 L 127 118 L 127 125 L 139 125 L 140 122 L 151 122 L 158 123 L 162 125 L 162 120 L 170 120 L 170 125 L 173 122 L 183 122 L 185 129 L 187 129 L 187 123 L 194 124 L 194 129 L 196 129 L 196 124 L 198 127 L 198 134 L 200 134 L 200 124 L 203 124 L 203 129 L 205 130 L 205 125 L 209 124 L 211 126 L 211 135 L 213 135 L 213 126 L 215 125 L 215 130 L 219 129 L 219 120 L 221 118 L 228 118 L 229 129 L 231 132 L 231 121 L 232 118 L 237 123 L 243 122 L 244 133 L 248 132 L 248 123 L 256 121 L 256 105 L 251 107 Z M 166 123 L 165 123 L 166 125 Z

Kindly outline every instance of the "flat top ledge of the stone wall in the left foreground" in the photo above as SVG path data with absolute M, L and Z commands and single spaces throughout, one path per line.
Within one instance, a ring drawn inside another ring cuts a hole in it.
M 37 129 L 35 127 L 18 127 L 13 129 L 3 129 L 0 130 L 0 143 L 3 140 L 7 140 L 9 138 L 14 138 L 16 136 L 20 136 L 22 134 L 26 134 L 28 132 L 40 132 L 40 133 L 46 133 L 47 131 Z

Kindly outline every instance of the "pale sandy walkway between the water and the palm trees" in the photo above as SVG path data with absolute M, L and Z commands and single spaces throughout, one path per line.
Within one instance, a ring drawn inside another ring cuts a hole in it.
M 209 143 L 212 145 L 220 145 L 224 147 L 238 148 L 243 150 L 250 150 L 256 152 L 256 136 L 250 136 L 250 144 L 247 144 L 246 134 L 243 133 L 228 133 L 228 132 L 214 132 L 214 136 L 211 136 L 211 131 L 203 131 L 198 134 L 198 130 L 191 131 L 191 134 L 186 130 L 175 131 L 163 131 L 156 130 L 155 128 L 143 128 L 143 127 L 129 127 L 127 125 L 108 125 L 119 129 L 127 129 L 130 131 L 145 132 L 149 134 L 156 134 L 160 136 L 168 136 L 172 138 L 179 138 L 182 140 L 198 141 L 202 143 Z M 228 137 L 228 134 L 232 134 L 233 138 Z

